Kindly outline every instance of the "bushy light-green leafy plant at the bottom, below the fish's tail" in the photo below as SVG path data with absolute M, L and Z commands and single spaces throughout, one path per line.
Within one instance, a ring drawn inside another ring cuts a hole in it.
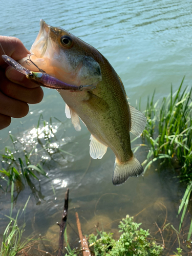
M 141 223 L 133 221 L 129 215 L 119 224 L 120 238 L 113 239 L 113 233 L 98 232 L 97 236 L 90 234 L 90 249 L 94 248 L 95 256 L 157 256 L 162 251 L 162 246 L 151 239 L 148 230 L 139 228 Z M 100 237 L 100 238 L 98 238 Z

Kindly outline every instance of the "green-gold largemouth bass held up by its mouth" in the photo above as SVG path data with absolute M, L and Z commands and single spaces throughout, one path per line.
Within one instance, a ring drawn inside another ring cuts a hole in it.
M 91 133 L 90 156 L 101 159 L 108 147 L 114 152 L 113 184 L 121 185 L 130 177 L 142 175 L 143 167 L 131 149 L 130 132 L 140 137 L 146 118 L 127 101 L 122 80 L 110 62 L 91 45 L 43 19 L 30 52 L 30 70 L 37 71 L 38 67 L 73 86 L 91 84 L 95 88 L 57 91 L 66 102 L 65 113 L 75 130 L 81 130 L 80 118 Z M 24 67 L 26 58 L 19 61 Z

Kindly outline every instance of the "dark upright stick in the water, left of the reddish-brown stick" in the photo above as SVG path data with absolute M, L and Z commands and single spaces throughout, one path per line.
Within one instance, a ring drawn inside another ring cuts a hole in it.
M 63 207 L 63 212 L 62 212 L 62 217 L 61 217 L 61 223 L 59 224 L 57 222 L 57 225 L 60 227 L 60 232 L 59 232 L 59 250 L 57 256 L 62 256 L 63 255 L 63 235 L 66 229 L 66 222 L 67 222 L 67 215 L 68 215 L 68 199 L 69 199 L 69 188 L 66 191 L 65 195 L 65 203 Z

